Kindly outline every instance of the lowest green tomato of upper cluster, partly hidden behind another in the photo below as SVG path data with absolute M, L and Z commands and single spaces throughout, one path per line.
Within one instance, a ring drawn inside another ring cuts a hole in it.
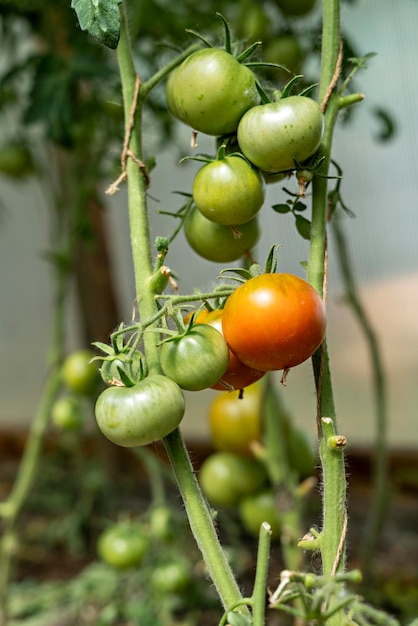
M 260 238 L 257 216 L 239 227 L 216 224 L 194 207 L 184 220 L 188 244 L 204 259 L 214 263 L 237 261 L 248 254 Z

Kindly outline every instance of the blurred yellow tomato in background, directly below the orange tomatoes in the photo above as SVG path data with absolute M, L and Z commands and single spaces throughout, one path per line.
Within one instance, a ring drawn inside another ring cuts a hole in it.
M 239 391 L 223 391 L 209 405 L 209 430 L 214 448 L 251 455 L 261 440 L 261 387 L 255 383 Z

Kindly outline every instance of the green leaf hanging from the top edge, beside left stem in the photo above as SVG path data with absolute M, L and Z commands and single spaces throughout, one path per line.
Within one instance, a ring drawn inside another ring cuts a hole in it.
M 86 30 L 107 48 L 119 43 L 119 0 L 72 0 L 81 30 Z

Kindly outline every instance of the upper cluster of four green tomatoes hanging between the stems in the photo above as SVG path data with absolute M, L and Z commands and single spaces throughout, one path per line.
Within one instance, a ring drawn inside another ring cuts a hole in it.
M 270 52 L 271 54 L 271 52 Z M 169 76 L 167 105 L 195 132 L 217 137 L 216 157 L 197 172 L 184 219 L 191 248 L 214 262 L 248 255 L 260 236 L 265 182 L 292 172 L 319 148 L 323 114 L 317 102 L 285 93 L 261 101 L 262 89 L 243 58 L 207 48 Z

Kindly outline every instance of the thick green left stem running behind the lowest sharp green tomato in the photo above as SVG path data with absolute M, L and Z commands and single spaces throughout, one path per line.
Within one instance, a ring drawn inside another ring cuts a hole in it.
M 135 85 L 138 84 L 134 69 L 131 46 L 126 21 L 121 13 L 121 35 L 118 45 L 118 61 L 122 80 L 125 117 L 130 119 L 134 101 Z M 144 101 L 138 100 L 135 125 L 131 130 L 129 149 L 139 160 L 142 159 L 141 113 Z M 143 171 L 138 169 L 133 159 L 127 162 L 129 224 L 131 246 L 135 272 L 137 302 L 141 319 L 152 318 L 158 307 L 151 289 L 147 288 L 153 273 L 149 243 L 149 223 L 146 207 L 146 184 Z M 144 334 L 144 347 L 149 371 L 159 372 L 158 333 Z M 229 567 L 227 558 L 216 534 L 213 519 L 203 498 L 197 478 L 194 474 L 190 457 L 182 435 L 176 429 L 164 439 L 164 445 L 171 461 L 173 471 L 183 498 L 186 513 L 195 540 L 202 552 L 208 572 L 218 590 L 225 607 L 242 600 L 238 585 Z M 248 612 L 245 607 L 242 610 Z

